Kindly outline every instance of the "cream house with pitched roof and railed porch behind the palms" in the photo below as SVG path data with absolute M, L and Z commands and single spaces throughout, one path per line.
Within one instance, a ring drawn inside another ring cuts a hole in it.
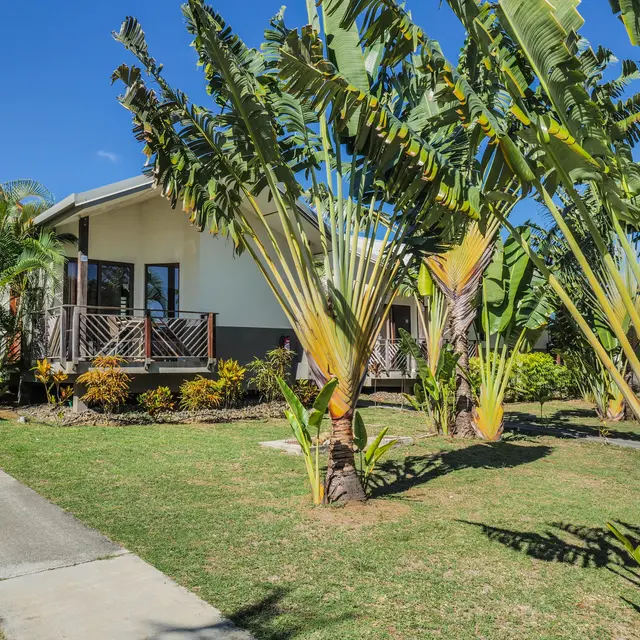
M 300 207 L 319 250 L 315 214 Z M 278 217 L 268 219 L 280 233 Z M 307 375 L 296 336 L 251 256 L 234 255 L 222 236 L 198 232 L 150 178 L 72 194 L 35 223 L 78 238 L 62 292 L 34 315 L 31 332 L 32 359 L 47 357 L 71 381 L 95 356 L 112 354 L 126 359 L 132 390 L 176 388 L 210 373 L 217 358 L 247 363 L 281 344 L 299 355 L 298 376 Z M 406 369 L 398 328 L 419 335 L 415 302 L 396 302 L 374 353 L 386 380 Z

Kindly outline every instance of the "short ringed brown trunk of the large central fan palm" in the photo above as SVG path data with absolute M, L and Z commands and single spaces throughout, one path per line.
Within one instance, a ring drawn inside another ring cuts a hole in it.
M 353 413 L 331 417 L 329 463 L 324 483 L 324 502 L 363 502 L 367 499 L 356 469 L 353 452 Z

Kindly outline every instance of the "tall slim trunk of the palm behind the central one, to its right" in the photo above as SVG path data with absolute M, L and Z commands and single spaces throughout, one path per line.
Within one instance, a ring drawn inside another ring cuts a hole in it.
M 473 438 L 476 435 L 473 428 L 473 396 L 471 385 L 466 373 L 469 370 L 469 326 L 473 317 L 461 318 L 460 305 L 451 304 L 451 340 L 453 350 L 459 356 L 456 369 L 456 421 L 453 427 L 453 435 L 459 438 Z M 475 316 L 475 310 L 474 314 Z

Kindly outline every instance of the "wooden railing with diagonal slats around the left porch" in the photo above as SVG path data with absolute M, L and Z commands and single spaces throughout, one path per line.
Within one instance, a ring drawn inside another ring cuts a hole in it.
M 216 358 L 216 314 L 180 311 L 175 316 L 145 309 L 61 305 L 33 314 L 31 359 L 66 366 L 96 356 L 130 362 Z

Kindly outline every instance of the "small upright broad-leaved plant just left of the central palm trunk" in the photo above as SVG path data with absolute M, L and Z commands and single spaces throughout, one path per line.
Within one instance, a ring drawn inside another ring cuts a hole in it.
M 282 378 L 277 380 L 282 395 L 289 405 L 289 409 L 285 409 L 284 414 L 287 416 L 293 435 L 302 449 L 311 484 L 313 504 L 321 504 L 324 497 L 324 487 L 320 481 L 320 427 L 329 406 L 329 400 L 338 385 L 338 379 L 332 378 L 320 389 L 311 411 L 304 408 L 300 399 Z M 312 438 L 311 430 L 315 431 L 315 438 Z M 315 452 L 311 450 L 314 440 Z

